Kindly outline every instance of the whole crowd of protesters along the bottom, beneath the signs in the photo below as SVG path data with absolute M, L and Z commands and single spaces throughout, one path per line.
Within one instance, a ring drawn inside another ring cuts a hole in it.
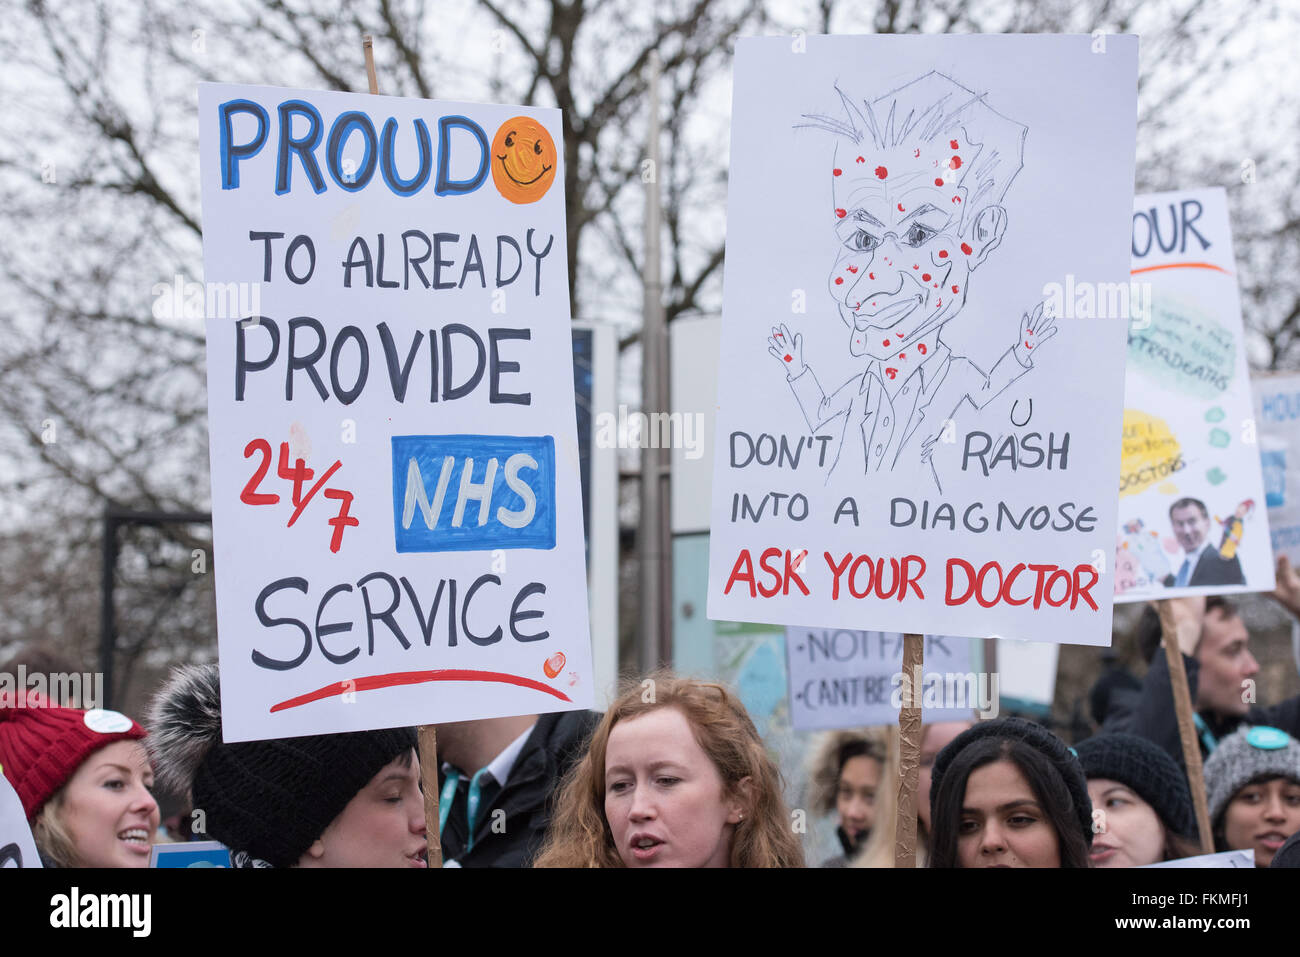
M 1300 866 L 1300 696 L 1243 703 L 1257 664 L 1234 606 L 1174 606 L 1214 850 Z M 1101 731 L 1072 746 L 1015 716 L 923 727 L 918 866 L 1140 867 L 1205 853 L 1160 632 L 1143 628 L 1145 679 L 1095 694 Z M 437 741 L 443 866 L 802 867 L 806 810 L 837 824 L 842 853 L 822 866 L 894 865 L 897 728 L 824 735 L 806 809 L 788 804 L 732 690 L 668 672 L 628 683 L 603 714 L 443 724 Z M 143 724 L 34 692 L 0 700 L 0 766 L 46 866 L 148 866 L 155 778 L 187 801 L 186 836 L 220 841 L 233 866 L 429 865 L 412 728 L 225 744 L 211 664 L 178 668 Z

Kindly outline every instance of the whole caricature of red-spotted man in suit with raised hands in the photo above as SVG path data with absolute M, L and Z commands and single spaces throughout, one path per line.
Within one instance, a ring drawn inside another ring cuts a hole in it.
M 842 116 L 806 113 L 796 126 L 836 138 L 829 182 L 838 252 L 827 287 L 849 326 L 849 354 L 867 361 L 828 393 L 803 360 L 803 333 L 774 325 L 767 351 L 811 432 L 844 416 L 850 459 L 864 472 L 919 465 L 941 490 L 933 449 L 942 424 L 962 403 L 988 406 L 1057 333 L 1043 303 L 1018 322 L 1014 313 L 994 319 L 1006 345 L 987 371 L 941 338 L 966 304 L 971 273 L 1006 231 L 1002 202 L 1028 130 L 937 72 L 874 100 L 836 94 Z M 837 454 L 831 469 L 838 463 Z

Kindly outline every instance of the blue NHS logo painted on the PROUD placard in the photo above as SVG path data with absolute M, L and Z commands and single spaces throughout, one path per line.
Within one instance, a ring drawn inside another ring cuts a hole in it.
M 394 436 L 398 551 L 555 547 L 551 436 Z

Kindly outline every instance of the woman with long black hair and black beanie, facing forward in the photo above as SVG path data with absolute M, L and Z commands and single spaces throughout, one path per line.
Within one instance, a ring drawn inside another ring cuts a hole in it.
M 1050 731 L 976 724 L 940 752 L 931 779 L 931 867 L 1088 866 L 1088 783 Z

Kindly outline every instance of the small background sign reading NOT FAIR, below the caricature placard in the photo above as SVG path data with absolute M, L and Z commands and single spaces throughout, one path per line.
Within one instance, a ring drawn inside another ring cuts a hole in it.
M 974 720 L 975 711 L 997 710 L 997 675 L 975 674 L 970 638 L 926 636 L 926 666 L 902 679 L 900 632 L 848 628 L 786 628 L 790 723 L 794 728 L 853 728 L 894 724 L 910 688 L 926 720 Z

